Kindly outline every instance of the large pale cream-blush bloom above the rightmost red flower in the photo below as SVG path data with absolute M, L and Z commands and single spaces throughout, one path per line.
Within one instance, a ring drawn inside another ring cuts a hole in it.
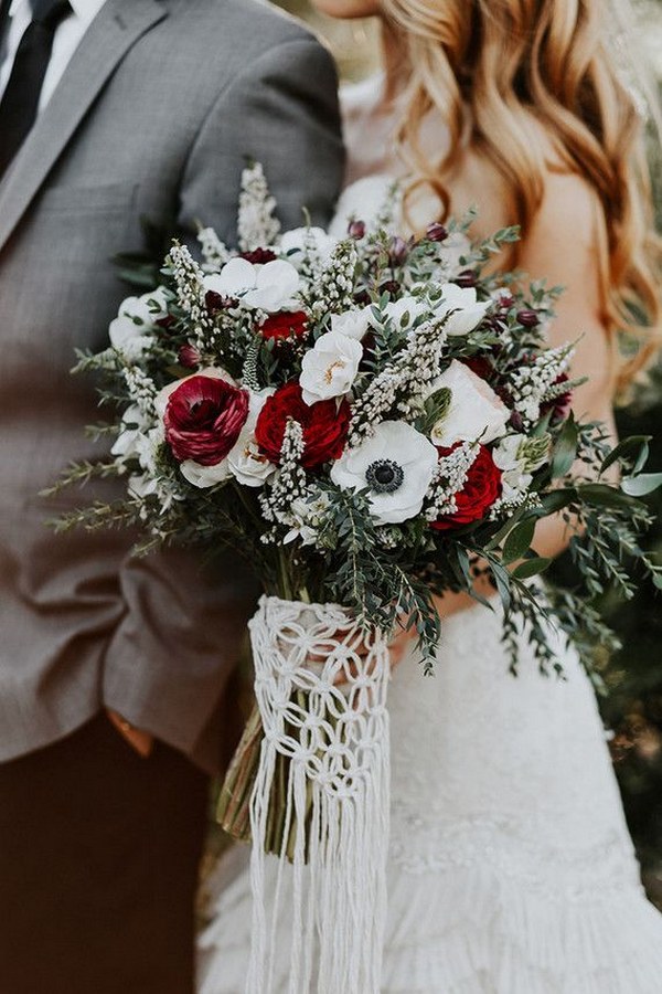
M 450 403 L 431 431 L 435 445 L 450 448 L 456 442 L 493 442 L 505 433 L 511 412 L 489 383 L 453 359 L 437 377 L 430 394 L 446 388 Z

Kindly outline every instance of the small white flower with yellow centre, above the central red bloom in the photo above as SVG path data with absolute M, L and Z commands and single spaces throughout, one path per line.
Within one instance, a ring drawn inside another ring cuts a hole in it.
M 321 335 L 301 361 L 301 396 L 314 404 L 343 396 L 352 387 L 363 357 L 363 346 L 342 331 Z

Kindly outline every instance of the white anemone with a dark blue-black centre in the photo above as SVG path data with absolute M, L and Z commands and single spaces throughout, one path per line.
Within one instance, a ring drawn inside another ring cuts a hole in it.
M 375 522 L 397 525 L 419 514 L 437 462 L 437 450 L 420 432 L 404 421 L 384 421 L 371 438 L 345 450 L 331 479 L 343 490 L 369 488 Z

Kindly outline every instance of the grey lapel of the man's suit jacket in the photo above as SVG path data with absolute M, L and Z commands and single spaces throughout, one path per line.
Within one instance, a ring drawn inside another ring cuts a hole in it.
M 107 0 L 0 184 L 0 248 L 131 45 L 167 17 L 157 0 Z

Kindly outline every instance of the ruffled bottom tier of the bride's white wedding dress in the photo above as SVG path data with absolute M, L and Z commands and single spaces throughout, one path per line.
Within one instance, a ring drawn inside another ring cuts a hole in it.
M 245 858 L 233 854 L 232 859 Z M 235 866 L 236 871 L 236 866 Z M 270 871 L 275 876 L 275 865 Z M 200 940 L 199 994 L 242 994 L 249 949 L 247 873 L 221 893 Z M 600 874 L 598 873 L 598 876 Z M 425 875 L 392 867 L 382 994 L 660 994 L 662 919 L 636 880 L 569 898 L 489 865 Z M 289 922 L 276 938 L 288 990 Z M 311 994 L 316 992 L 311 991 Z M 366 992 L 348 992 L 366 994 Z

